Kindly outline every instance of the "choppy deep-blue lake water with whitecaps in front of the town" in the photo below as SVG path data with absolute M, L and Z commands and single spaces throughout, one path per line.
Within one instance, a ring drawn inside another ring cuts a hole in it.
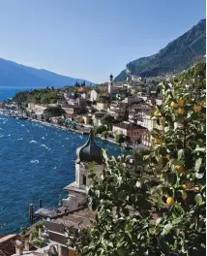
M 74 181 L 76 148 L 87 136 L 0 115 L 0 235 L 29 224 L 28 206 L 56 208 L 63 187 Z M 97 141 L 109 155 L 123 149 Z M 125 151 L 126 152 L 126 151 Z

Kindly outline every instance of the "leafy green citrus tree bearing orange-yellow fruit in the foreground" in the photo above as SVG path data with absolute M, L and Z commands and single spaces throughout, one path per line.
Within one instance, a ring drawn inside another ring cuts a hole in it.
M 205 86 L 201 80 L 191 91 L 181 81 L 161 86 L 164 133 L 154 130 L 142 176 L 125 156 L 104 154 L 103 175 L 92 177 L 96 218 L 71 237 L 81 255 L 205 255 Z

